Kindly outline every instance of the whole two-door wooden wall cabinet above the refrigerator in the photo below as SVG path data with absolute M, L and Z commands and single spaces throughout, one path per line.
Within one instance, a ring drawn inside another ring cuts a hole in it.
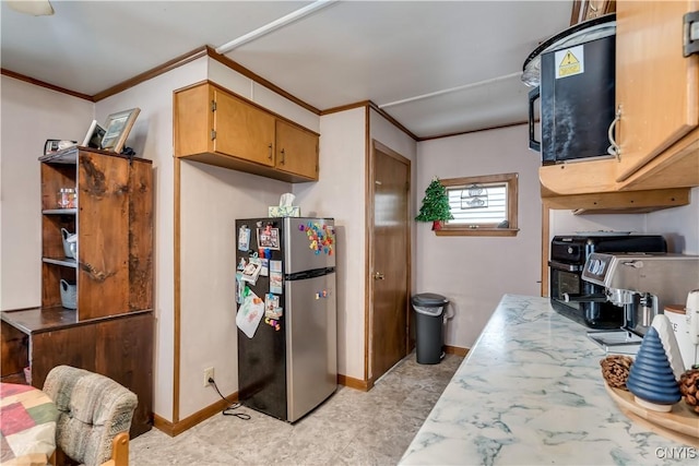
M 175 156 L 283 181 L 318 179 L 319 135 L 211 82 L 175 92 Z

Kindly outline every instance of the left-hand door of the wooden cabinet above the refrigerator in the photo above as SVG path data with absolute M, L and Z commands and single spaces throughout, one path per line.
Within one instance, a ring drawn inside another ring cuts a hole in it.
M 214 151 L 274 166 L 274 117 L 220 89 L 214 100 Z

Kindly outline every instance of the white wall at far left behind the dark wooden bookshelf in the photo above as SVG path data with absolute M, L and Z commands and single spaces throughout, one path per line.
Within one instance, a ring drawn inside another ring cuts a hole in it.
M 0 309 L 42 306 L 42 190 L 38 157 L 47 139 L 82 143 L 91 101 L 0 77 Z

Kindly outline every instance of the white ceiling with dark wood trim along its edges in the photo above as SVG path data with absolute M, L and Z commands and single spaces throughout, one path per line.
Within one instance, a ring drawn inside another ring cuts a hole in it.
M 96 95 L 312 2 L 2 1 L 3 70 Z M 319 110 L 371 100 L 419 139 L 526 120 L 522 64 L 572 0 L 335 1 L 225 53 Z

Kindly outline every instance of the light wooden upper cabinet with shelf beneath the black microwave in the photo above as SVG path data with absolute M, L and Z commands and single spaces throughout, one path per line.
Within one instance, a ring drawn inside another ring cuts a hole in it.
M 543 195 L 699 186 L 699 56 L 683 56 L 696 0 L 616 4 L 619 157 L 540 169 Z

